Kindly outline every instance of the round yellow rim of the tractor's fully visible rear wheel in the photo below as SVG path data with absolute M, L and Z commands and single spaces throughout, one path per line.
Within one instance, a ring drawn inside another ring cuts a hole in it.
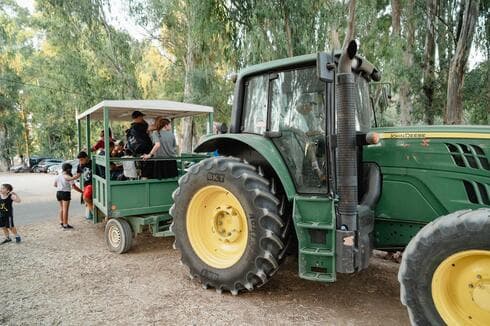
M 245 211 L 238 199 L 220 186 L 206 186 L 192 197 L 186 227 L 194 252 L 214 268 L 233 266 L 247 247 Z

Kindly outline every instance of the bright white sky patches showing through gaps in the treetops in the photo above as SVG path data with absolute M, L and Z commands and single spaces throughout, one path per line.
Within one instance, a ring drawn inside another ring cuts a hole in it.
M 34 12 L 34 0 L 16 0 L 17 3 L 32 13 Z M 141 41 L 148 38 L 148 33 L 129 15 L 129 8 L 126 0 L 111 0 L 110 11 L 106 8 L 106 16 L 109 24 L 119 30 L 129 33 L 133 38 Z M 475 46 L 471 47 L 468 65 L 470 70 L 483 62 L 485 57 Z

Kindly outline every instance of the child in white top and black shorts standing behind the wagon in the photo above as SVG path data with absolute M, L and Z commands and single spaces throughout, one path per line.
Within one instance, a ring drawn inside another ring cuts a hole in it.
M 56 199 L 60 204 L 60 225 L 64 230 L 73 229 L 73 226 L 68 224 L 68 211 L 70 209 L 71 188 L 82 193 L 82 190 L 77 187 L 71 173 L 72 165 L 63 163 L 61 166 L 61 174 L 56 177 L 54 186 L 58 189 Z

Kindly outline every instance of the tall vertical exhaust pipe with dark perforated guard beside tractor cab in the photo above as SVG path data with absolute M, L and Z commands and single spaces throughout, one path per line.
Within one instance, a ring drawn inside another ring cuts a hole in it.
M 337 73 L 337 171 L 339 229 L 337 230 L 337 271 L 356 270 L 357 225 L 357 144 L 355 78 L 352 60 L 357 44 L 351 41 L 342 51 Z

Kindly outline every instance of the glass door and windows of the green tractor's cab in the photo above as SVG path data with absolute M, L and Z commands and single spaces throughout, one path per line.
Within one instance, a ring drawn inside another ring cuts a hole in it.
M 257 67 L 239 76 L 236 94 L 243 97 L 235 101 L 232 132 L 270 138 L 298 192 L 328 193 L 327 144 L 336 125 L 334 84 L 319 78 L 316 55 L 292 61 L 285 69 Z M 372 117 L 369 79 L 362 73 L 355 78 L 355 128 L 367 133 Z M 330 155 L 332 159 L 334 153 Z

